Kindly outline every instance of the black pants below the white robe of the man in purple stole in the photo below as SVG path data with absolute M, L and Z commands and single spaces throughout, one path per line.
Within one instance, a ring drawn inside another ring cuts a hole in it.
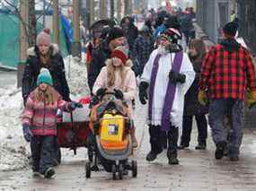
M 149 126 L 151 152 L 159 154 L 163 151 L 163 131 L 161 126 Z M 177 143 L 179 137 L 179 129 L 171 126 L 167 132 L 168 152 L 177 155 Z

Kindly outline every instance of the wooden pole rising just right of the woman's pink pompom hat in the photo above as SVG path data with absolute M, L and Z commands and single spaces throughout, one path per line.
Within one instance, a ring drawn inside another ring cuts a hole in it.
M 59 45 L 58 0 L 53 0 L 53 42 Z

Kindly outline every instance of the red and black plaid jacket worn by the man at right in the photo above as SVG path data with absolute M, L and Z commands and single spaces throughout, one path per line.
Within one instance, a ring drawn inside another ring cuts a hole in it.
M 228 52 L 221 45 L 212 48 L 202 64 L 199 89 L 211 99 L 244 98 L 246 88 L 256 90 L 252 56 L 242 46 Z

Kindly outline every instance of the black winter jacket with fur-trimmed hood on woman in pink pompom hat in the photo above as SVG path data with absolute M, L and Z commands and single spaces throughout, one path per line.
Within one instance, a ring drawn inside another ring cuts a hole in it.
M 70 101 L 70 91 L 66 82 L 63 57 L 60 55 L 57 45 L 55 44 L 50 46 L 49 51 L 50 57 L 47 65 L 41 63 L 40 50 L 37 46 L 29 48 L 27 51 L 28 58 L 22 77 L 22 97 L 24 103 L 31 91 L 37 87 L 37 78 L 42 67 L 49 69 L 53 80 L 53 87 L 61 94 L 63 100 Z

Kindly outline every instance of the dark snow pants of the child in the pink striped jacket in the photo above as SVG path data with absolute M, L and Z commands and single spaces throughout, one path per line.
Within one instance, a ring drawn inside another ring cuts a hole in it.
M 31 156 L 32 170 L 45 173 L 49 167 L 52 167 L 53 156 L 55 150 L 55 136 L 33 136 L 31 138 Z

